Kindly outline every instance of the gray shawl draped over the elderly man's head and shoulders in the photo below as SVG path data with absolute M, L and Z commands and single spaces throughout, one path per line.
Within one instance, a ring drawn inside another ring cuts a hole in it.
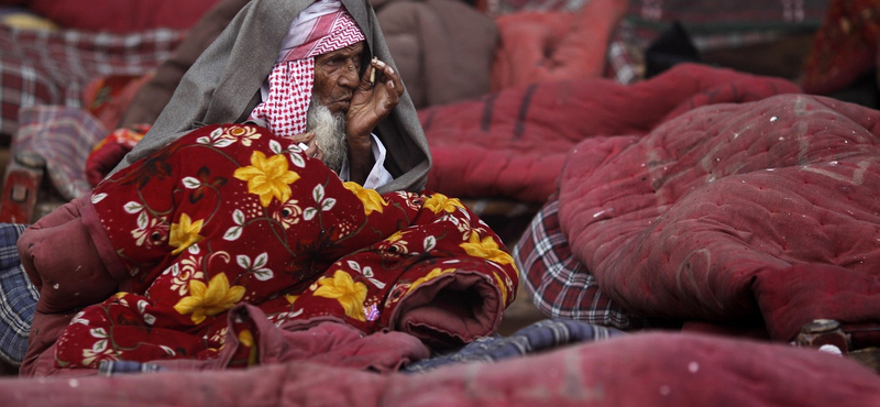
M 252 0 L 244 6 L 184 75 L 153 128 L 113 173 L 196 128 L 246 120 L 258 101 L 260 86 L 275 65 L 287 28 L 311 1 Z M 367 0 L 341 1 L 363 31 L 372 55 L 397 70 Z M 421 190 L 431 156 L 408 92 L 375 133 L 388 150 L 385 168 L 394 176 L 378 191 Z

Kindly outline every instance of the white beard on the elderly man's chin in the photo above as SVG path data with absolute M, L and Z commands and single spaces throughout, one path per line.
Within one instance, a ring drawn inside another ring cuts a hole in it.
M 330 111 L 312 97 L 306 114 L 306 131 L 315 132 L 315 140 L 323 151 L 323 163 L 339 174 L 348 154 L 345 141 L 345 113 Z

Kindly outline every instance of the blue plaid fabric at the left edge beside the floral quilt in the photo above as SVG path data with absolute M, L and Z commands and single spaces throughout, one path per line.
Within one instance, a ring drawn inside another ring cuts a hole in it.
M 15 242 L 26 224 L 0 223 L 0 358 L 19 366 L 28 351 L 28 336 L 38 293 L 19 261 Z

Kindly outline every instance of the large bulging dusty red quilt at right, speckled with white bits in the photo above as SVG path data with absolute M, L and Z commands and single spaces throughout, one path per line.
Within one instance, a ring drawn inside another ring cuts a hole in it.
M 625 133 L 624 133 L 625 134 Z M 880 112 L 782 95 L 591 139 L 560 178 L 579 261 L 636 314 L 880 322 Z

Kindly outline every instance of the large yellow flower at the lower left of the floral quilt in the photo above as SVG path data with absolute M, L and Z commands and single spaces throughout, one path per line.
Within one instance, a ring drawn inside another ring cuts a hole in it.
M 193 323 L 201 323 L 206 317 L 213 317 L 232 308 L 244 296 L 244 287 L 229 286 L 226 274 L 211 277 L 205 283 L 193 279 L 189 282 L 189 296 L 180 298 L 174 310 L 180 315 L 191 314 Z

